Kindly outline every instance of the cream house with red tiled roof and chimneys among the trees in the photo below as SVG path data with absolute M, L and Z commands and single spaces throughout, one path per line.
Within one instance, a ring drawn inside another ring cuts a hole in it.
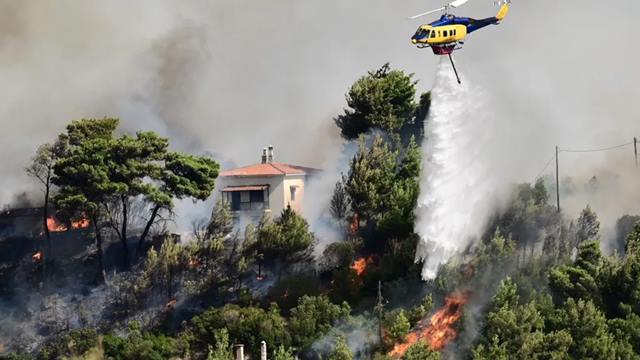
M 220 172 L 219 189 L 235 216 L 278 216 L 290 205 L 302 213 L 305 184 L 318 169 L 274 161 L 273 145 L 262 150 L 259 164 Z

